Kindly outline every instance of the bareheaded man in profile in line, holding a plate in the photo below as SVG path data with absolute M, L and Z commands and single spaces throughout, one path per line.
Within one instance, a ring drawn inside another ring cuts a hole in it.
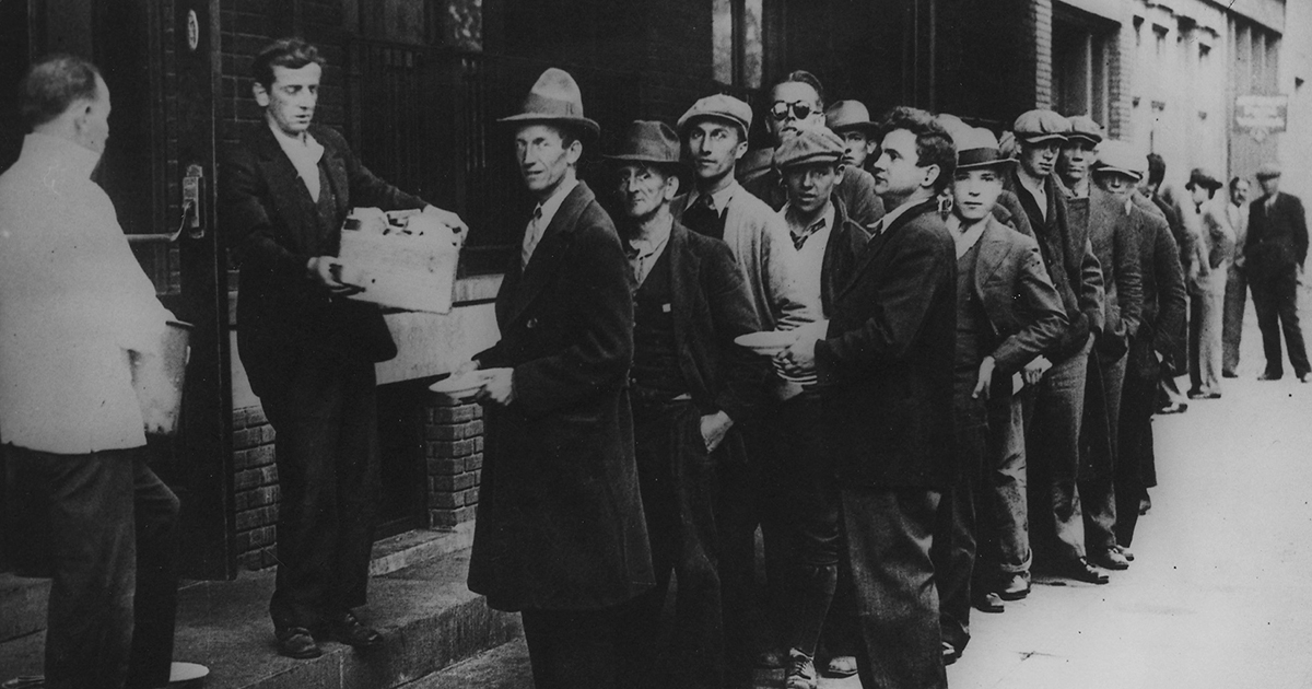
M 875 184 L 893 210 L 834 294 L 827 332 L 804 332 L 782 356 L 783 373 L 819 377 L 861 684 L 933 689 L 947 677 L 929 553 L 955 478 L 956 257 L 938 194 L 956 151 L 924 110 L 896 108 L 882 130 Z

